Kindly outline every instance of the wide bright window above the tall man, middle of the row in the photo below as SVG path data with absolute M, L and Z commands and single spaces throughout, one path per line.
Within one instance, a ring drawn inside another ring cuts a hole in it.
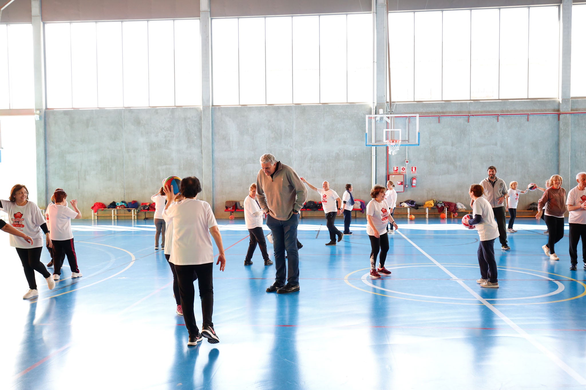
M 212 20 L 213 104 L 372 101 L 372 15 Z

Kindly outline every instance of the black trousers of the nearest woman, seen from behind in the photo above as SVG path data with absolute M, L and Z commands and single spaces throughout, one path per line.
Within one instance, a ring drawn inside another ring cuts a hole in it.
M 206 326 L 214 326 L 212 322 L 214 308 L 213 264 L 175 265 L 175 272 L 177 272 L 177 281 L 179 284 L 179 295 L 181 296 L 183 320 L 185 320 L 185 327 L 187 327 L 189 336 L 191 337 L 196 337 L 199 334 L 199 329 L 195 322 L 195 314 L 193 313 L 193 302 L 195 301 L 193 278 L 196 275 L 197 284 L 199 285 L 199 298 L 202 301 L 202 329 Z

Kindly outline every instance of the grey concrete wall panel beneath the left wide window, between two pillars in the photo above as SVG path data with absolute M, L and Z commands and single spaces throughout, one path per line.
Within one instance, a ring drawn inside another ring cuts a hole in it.
M 149 202 L 169 175 L 200 175 L 201 109 L 46 111 L 47 188 L 94 202 Z

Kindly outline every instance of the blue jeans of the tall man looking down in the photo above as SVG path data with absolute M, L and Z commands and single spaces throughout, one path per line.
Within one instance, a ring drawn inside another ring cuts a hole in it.
M 282 221 L 267 214 L 267 227 L 271 229 L 272 246 L 275 251 L 275 281 L 280 284 L 287 282 L 299 284 L 299 253 L 297 251 L 297 225 L 299 215 L 293 214 L 288 220 Z M 285 272 L 285 250 L 287 250 L 288 267 Z

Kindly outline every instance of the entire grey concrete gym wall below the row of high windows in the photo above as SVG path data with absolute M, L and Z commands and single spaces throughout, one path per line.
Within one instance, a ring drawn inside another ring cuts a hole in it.
M 556 111 L 557 101 L 409 103 L 407 113 Z M 581 101 L 576 101 L 577 107 Z M 483 111 L 484 110 L 484 111 Z M 346 182 L 355 197 L 369 199 L 371 149 L 364 147 L 364 115 L 369 105 L 237 106 L 212 108 L 213 206 L 224 216 L 224 202 L 243 200 L 255 181 L 263 153 L 273 153 L 320 187 L 328 180 L 341 195 Z M 82 211 L 96 201 L 146 202 L 168 175 L 202 174 L 199 108 L 50 110 L 47 118 L 47 188 L 63 187 L 79 199 Z M 442 199 L 468 204 L 470 184 L 486 177 L 488 165 L 507 182 L 543 187 L 560 172 L 564 187 L 586 171 L 586 115 L 570 115 L 571 141 L 560 149 L 557 115 L 421 118 L 421 146 L 402 148 L 389 165 L 417 166 L 417 187 L 399 201 Z M 377 182 L 386 180 L 386 150 L 377 148 Z M 411 175 L 407 175 L 410 178 Z M 539 199 L 540 191 L 520 196 L 519 208 Z M 50 195 L 49 195 L 50 196 Z M 316 192 L 309 199 L 318 200 Z

